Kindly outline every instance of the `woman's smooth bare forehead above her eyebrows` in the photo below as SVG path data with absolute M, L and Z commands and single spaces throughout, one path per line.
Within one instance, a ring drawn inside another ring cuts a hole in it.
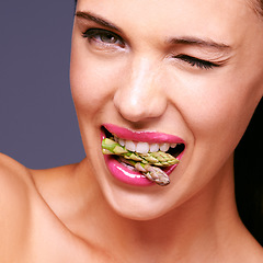
M 79 0 L 78 10 L 148 34 L 176 31 L 220 37 L 247 30 L 259 20 L 249 0 Z

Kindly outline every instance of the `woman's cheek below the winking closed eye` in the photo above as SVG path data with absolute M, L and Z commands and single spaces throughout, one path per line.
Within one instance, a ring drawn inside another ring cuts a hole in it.
M 228 151 L 235 149 L 256 106 L 253 91 L 258 83 L 241 80 L 195 80 L 185 88 L 179 107 L 196 144 L 218 149 L 227 144 Z

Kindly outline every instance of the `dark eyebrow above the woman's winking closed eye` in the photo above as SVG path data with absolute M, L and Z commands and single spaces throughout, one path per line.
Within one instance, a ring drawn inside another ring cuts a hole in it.
M 182 37 L 172 37 L 168 41 L 169 44 L 172 45 L 188 45 L 188 46 L 199 46 L 199 47 L 208 47 L 222 50 L 230 50 L 231 47 L 225 43 L 218 43 L 211 39 L 203 39 L 199 37 L 190 37 L 190 36 L 182 36 Z

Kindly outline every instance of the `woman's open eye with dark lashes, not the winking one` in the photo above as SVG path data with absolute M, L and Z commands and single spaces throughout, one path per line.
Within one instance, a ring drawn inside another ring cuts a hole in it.
M 82 36 L 88 38 L 90 42 L 105 46 L 118 46 L 122 48 L 125 46 L 125 43 L 121 36 L 107 30 L 89 28 L 82 33 Z

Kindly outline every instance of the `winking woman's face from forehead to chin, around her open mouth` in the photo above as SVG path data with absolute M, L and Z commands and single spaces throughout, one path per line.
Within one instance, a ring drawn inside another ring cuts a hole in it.
M 79 0 L 72 96 L 90 169 L 116 211 L 149 219 L 208 185 L 216 195 L 262 98 L 262 46 L 263 23 L 245 0 Z M 104 128 L 135 144 L 180 137 L 169 186 L 125 180 L 122 163 L 114 174 Z

